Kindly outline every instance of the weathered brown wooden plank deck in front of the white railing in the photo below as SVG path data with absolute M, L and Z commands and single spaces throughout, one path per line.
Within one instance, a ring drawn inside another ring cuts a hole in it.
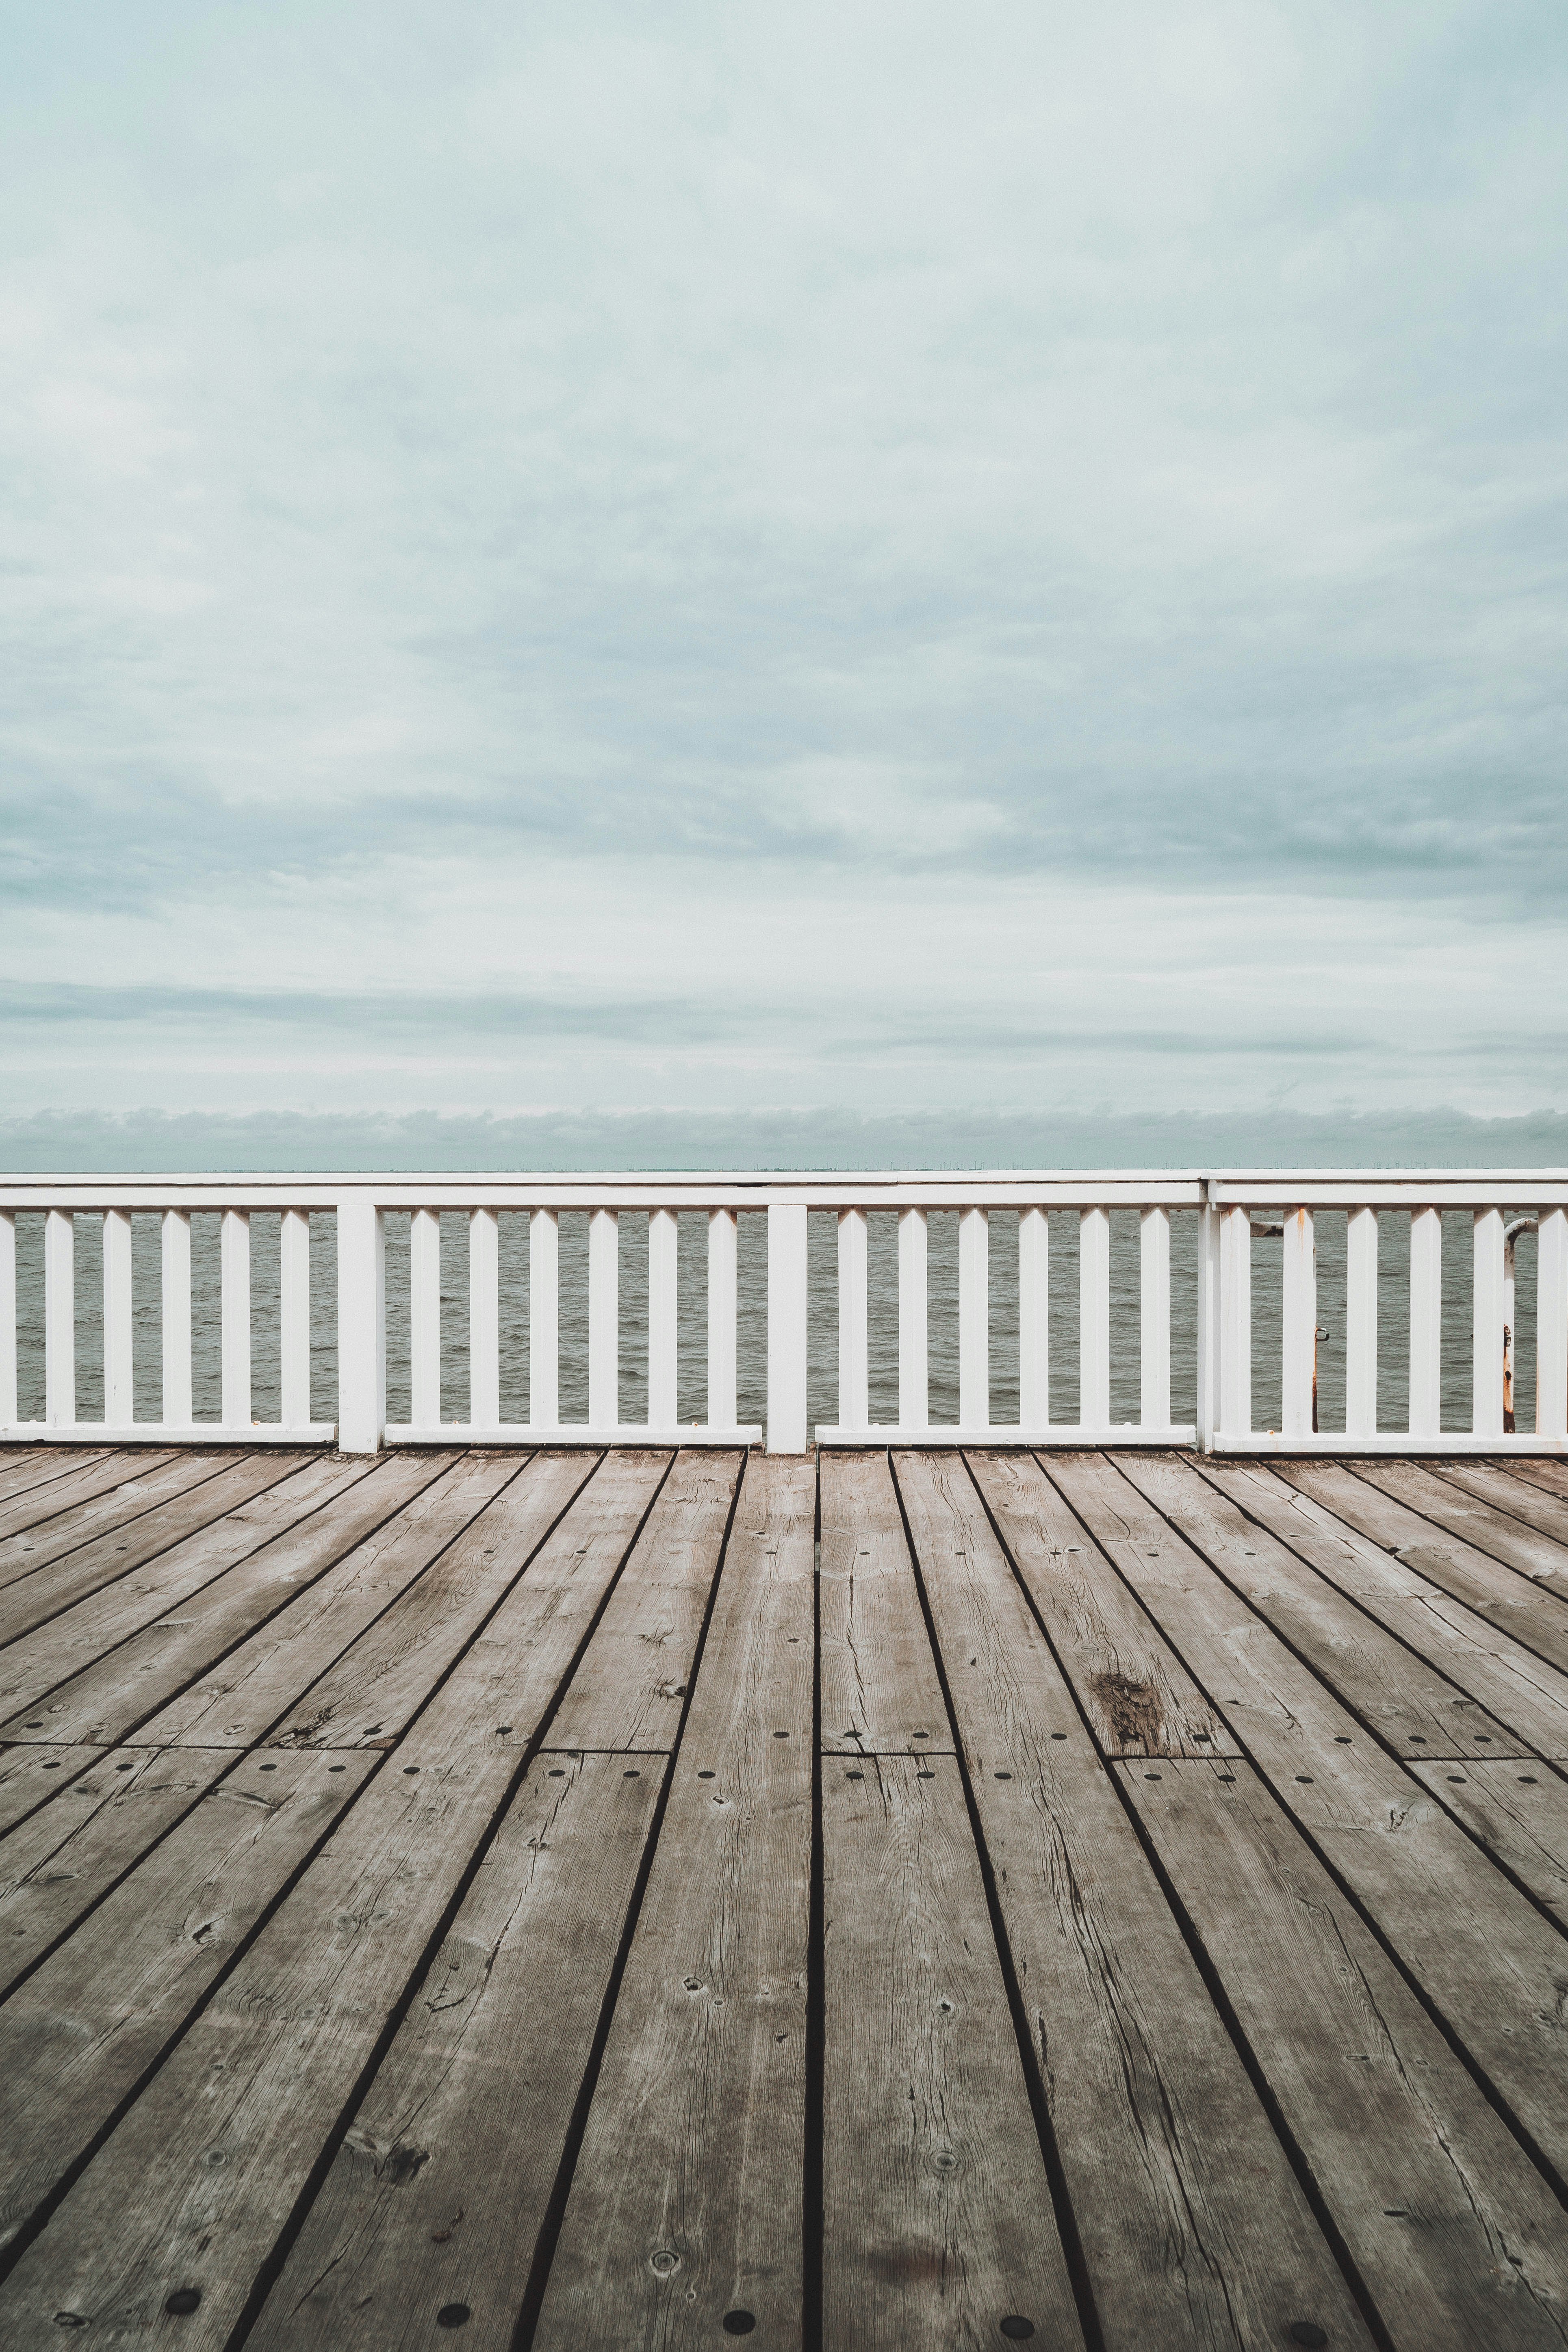
M 1561 1465 L 12 1454 L 0 1860 L 7 2347 L 1568 2343 Z

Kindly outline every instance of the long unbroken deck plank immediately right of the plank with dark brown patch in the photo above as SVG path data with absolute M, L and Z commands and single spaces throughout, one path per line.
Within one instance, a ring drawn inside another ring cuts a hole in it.
M 1060 1470 L 1053 1463 L 1053 1477 L 1222 1703 L 1274 1795 L 1568 2178 L 1561 1931 L 1213 1569 L 1194 1573 L 1197 1555 L 1147 1512 L 1119 1470 L 1072 1458 Z M 1159 1557 L 1150 1559 L 1150 1550 Z

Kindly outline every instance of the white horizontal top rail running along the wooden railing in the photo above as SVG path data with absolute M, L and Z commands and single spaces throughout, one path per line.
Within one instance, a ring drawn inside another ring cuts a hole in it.
M 961 1209 L 961 1207 L 1521 1207 L 1568 1204 L 1563 1169 L 842 1169 L 14 1174 L 0 1209 Z

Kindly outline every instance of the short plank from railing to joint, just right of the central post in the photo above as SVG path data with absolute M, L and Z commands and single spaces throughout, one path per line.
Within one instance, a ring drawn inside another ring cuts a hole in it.
M 818 1569 L 823 1748 L 952 1748 L 886 1454 L 823 1454 Z

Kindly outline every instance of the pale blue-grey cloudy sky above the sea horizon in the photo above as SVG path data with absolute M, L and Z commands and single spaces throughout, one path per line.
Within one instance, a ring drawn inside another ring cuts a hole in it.
M 5 0 L 0 1108 L 1568 1108 L 1561 5 Z

